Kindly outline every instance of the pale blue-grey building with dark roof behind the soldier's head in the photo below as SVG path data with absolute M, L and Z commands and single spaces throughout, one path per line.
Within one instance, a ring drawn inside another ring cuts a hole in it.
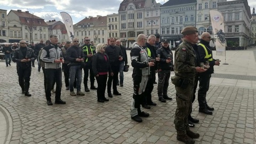
M 196 26 L 196 0 L 170 0 L 161 7 L 161 39 L 179 41 L 186 26 Z

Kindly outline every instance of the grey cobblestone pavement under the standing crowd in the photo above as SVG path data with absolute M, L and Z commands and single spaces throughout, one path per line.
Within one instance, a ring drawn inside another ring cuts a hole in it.
M 157 85 L 153 91 L 157 106 L 144 109 L 150 116 L 142 123 L 131 120 L 131 70 L 125 73 L 124 87 L 118 87 L 122 95 L 109 102 L 98 103 L 92 90 L 85 96 L 71 97 L 63 82 L 61 98 L 67 104 L 47 106 L 42 71 L 33 68 L 32 97 L 25 97 L 15 63 L 11 65 L 5 67 L 5 62 L 0 62 L 0 105 L 12 118 L 11 137 L 6 143 L 182 143 L 176 140 L 173 124 L 176 101 L 159 102 Z M 174 98 L 174 93 L 170 84 L 168 94 Z M 193 105 L 193 117 L 200 120 L 191 128 L 201 135 L 196 143 L 255 143 L 255 93 L 256 89 L 211 85 L 206 98 L 215 108 L 213 115 L 198 113 L 197 100 Z

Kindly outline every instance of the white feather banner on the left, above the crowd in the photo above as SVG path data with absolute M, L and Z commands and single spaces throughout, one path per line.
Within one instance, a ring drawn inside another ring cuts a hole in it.
M 63 23 L 65 24 L 65 27 L 67 29 L 69 41 L 72 41 L 72 39 L 74 38 L 74 29 L 73 29 L 72 18 L 66 12 L 60 12 L 60 15 L 61 15 Z

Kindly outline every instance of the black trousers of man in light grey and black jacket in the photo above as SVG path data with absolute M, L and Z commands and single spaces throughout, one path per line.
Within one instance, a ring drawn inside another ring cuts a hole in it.
M 56 81 L 55 101 L 60 100 L 61 87 L 62 87 L 61 68 L 45 69 L 45 71 L 46 71 L 46 78 L 47 78 L 46 91 L 45 91 L 46 100 L 51 100 L 51 90 L 54 83 L 54 79 Z

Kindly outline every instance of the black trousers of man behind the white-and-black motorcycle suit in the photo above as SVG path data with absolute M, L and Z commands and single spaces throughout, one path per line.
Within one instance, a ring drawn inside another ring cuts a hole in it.
M 152 71 L 150 71 L 150 74 L 153 74 L 151 73 Z M 154 74 L 153 74 L 154 75 Z M 148 105 L 149 103 L 152 103 L 152 91 L 154 89 L 154 82 L 155 82 L 155 79 L 154 79 L 154 76 L 153 75 L 149 75 L 148 76 L 148 82 L 147 82 L 147 86 L 146 86 L 146 89 L 145 89 L 145 92 L 143 94 L 143 96 L 145 98 L 143 98 L 143 101 L 142 101 L 142 105 Z M 155 75 L 156 76 L 156 75 Z

